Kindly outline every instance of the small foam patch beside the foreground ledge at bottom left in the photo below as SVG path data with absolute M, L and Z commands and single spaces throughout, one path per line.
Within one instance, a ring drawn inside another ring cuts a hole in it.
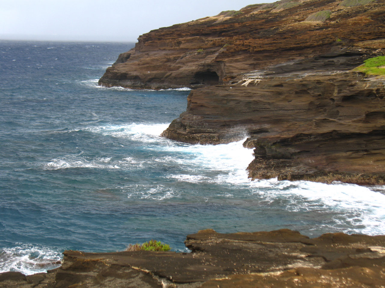
M 45 272 L 60 266 L 62 255 L 49 247 L 19 244 L 0 248 L 0 273 L 18 271 L 25 275 Z

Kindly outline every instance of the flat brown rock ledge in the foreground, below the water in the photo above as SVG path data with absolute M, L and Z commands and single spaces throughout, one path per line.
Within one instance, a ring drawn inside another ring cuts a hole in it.
M 187 236 L 191 253 L 65 251 L 48 273 L 0 274 L 0 287 L 383 287 L 385 235 L 299 232 Z

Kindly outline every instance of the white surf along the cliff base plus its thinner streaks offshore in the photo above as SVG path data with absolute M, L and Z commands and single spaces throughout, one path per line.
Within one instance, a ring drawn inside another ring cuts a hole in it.
M 81 156 L 65 156 L 53 159 L 47 169 L 70 167 L 98 167 L 107 169 L 141 169 L 149 165 L 175 165 L 180 173 L 170 171 L 166 179 L 189 183 L 215 183 L 242 189 L 241 194 L 224 193 L 223 197 L 254 197 L 274 204 L 285 203 L 288 212 L 324 213 L 332 216 L 332 225 L 323 230 L 339 230 L 348 233 L 385 234 L 385 195 L 368 187 L 333 183 L 322 184 L 307 181 L 278 181 L 277 179 L 248 179 L 246 168 L 254 159 L 253 150 L 243 147 L 243 142 L 220 145 L 182 144 L 159 136 L 168 124 L 128 124 L 89 127 L 94 133 L 113 137 L 129 138 L 147 144 L 144 149 L 151 152 L 149 159 L 122 157 L 95 158 L 86 161 Z M 159 152 L 161 152 L 159 154 Z M 169 153 L 167 153 L 169 152 Z M 181 197 L 182 191 L 158 184 L 129 185 L 120 187 L 129 198 L 163 200 Z M 377 190 L 383 190 L 377 187 Z M 334 224 L 333 224 L 334 223 Z M 322 224 L 321 224 L 322 225 Z M 319 227 L 318 227 L 319 228 Z

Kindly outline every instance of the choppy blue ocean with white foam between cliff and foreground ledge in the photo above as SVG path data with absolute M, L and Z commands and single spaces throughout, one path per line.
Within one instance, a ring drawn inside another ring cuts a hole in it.
M 160 137 L 188 89 L 97 86 L 133 45 L 0 41 L 0 271 L 153 238 L 184 251 L 205 228 L 385 234 L 384 187 L 252 182 L 243 141 Z

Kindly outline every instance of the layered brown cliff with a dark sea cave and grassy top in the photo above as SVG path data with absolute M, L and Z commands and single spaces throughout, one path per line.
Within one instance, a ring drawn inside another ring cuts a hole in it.
M 282 0 L 150 31 L 99 84 L 194 89 L 162 135 L 247 136 L 253 179 L 385 184 L 385 71 L 353 71 L 383 55 L 383 0 Z

